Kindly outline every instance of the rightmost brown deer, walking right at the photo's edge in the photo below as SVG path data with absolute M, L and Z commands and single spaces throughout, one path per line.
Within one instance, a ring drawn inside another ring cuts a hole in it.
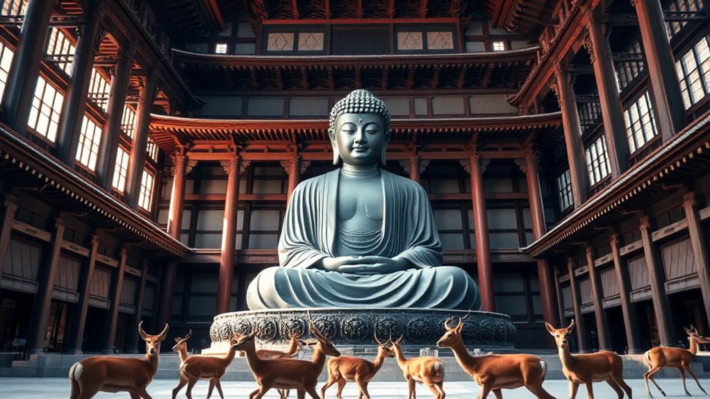
M 710 344 L 710 337 L 703 337 L 699 335 L 698 330 L 696 330 L 693 326 L 690 326 L 690 330 L 685 327 L 683 328 L 683 330 L 685 330 L 688 335 L 690 349 L 655 347 L 649 349 L 648 351 L 646 351 L 645 354 L 643 354 L 644 362 L 648 365 L 648 371 L 643 374 L 643 382 L 646 385 L 646 393 L 651 398 L 653 397 L 653 395 L 651 395 L 651 391 L 648 389 L 648 380 L 651 380 L 653 385 L 655 385 L 656 388 L 661 391 L 661 395 L 665 396 L 665 392 L 663 392 L 661 387 L 658 386 L 658 384 L 656 383 L 655 378 L 653 378 L 653 375 L 664 367 L 675 367 L 680 371 L 680 379 L 681 381 L 683 381 L 683 390 L 685 391 L 686 395 L 690 395 L 690 393 L 688 392 L 688 388 L 686 388 L 685 386 L 686 371 L 690 374 L 691 377 L 693 377 L 695 383 L 698 384 L 698 388 L 700 388 L 700 390 L 702 390 L 703 393 L 707 395 L 703 387 L 700 386 L 698 378 L 690 369 L 690 364 L 692 364 L 695 355 L 698 353 L 698 345 Z

